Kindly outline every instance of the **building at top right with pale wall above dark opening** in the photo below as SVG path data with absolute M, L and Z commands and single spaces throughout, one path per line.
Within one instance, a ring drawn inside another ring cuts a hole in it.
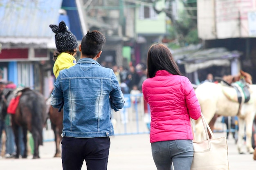
M 256 80 L 256 1 L 198 0 L 198 36 L 204 48 L 225 47 L 241 51 L 240 60 L 232 60 L 231 74 L 241 68 Z

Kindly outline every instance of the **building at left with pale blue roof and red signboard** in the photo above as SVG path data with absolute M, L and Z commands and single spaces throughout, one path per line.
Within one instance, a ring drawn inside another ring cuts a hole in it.
M 48 43 L 53 35 L 49 24 L 56 23 L 61 0 L 11 1 L 0 6 L 0 67 L 3 79 L 43 93 L 50 58 Z

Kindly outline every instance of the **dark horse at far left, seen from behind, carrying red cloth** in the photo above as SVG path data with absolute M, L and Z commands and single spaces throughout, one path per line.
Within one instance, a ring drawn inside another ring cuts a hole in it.
M 11 115 L 11 123 L 15 136 L 16 155 L 19 158 L 20 147 L 18 138 L 18 128 L 22 127 L 23 141 L 25 145 L 24 155 L 22 158 L 27 158 L 27 130 L 31 132 L 34 139 L 34 155 L 33 159 L 39 157 L 39 146 L 43 145 L 43 127 L 47 118 L 45 97 L 30 88 L 23 88 L 18 91 L 21 93 L 16 113 Z M 7 101 L 12 98 L 14 93 L 6 96 Z

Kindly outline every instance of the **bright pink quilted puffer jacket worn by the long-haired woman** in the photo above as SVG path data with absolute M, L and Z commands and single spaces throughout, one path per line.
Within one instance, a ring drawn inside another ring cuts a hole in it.
M 150 105 L 150 142 L 193 139 L 190 123 L 198 119 L 201 108 L 187 77 L 165 70 L 143 82 L 144 99 Z

